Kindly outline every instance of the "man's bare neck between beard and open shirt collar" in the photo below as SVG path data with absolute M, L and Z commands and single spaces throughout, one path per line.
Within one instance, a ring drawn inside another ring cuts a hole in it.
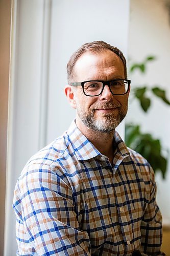
M 96 132 L 88 128 L 83 122 L 76 119 L 76 124 L 79 130 L 86 136 L 86 138 L 101 152 L 101 154 L 107 156 L 110 162 L 113 162 L 114 148 L 113 148 L 113 136 L 114 131 L 109 133 Z

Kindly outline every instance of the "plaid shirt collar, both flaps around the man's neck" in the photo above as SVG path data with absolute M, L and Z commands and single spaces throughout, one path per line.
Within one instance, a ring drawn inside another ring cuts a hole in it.
M 75 120 L 71 122 L 69 129 L 67 131 L 68 140 L 71 142 L 74 148 L 75 154 L 78 160 L 88 160 L 96 156 L 101 155 L 101 153 L 96 149 L 96 147 L 85 137 L 85 135 L 78 129 Z M 128 148 L 119 134 L 114 132 L 114 146 L 116 148 L 116 154 L 125 158 L 130 155 Z M 115 154 L 115 155 L 116 155 Z

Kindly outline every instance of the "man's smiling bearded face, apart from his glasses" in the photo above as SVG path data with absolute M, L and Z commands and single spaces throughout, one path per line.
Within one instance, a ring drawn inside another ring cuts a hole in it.
M 76 81 L 104 80 L 125 78 L 122 60 L 113 52 L 106 50 L 99 54 L 86 52 L 76 62 L 74 73 Z M 99 96 L 88 97 L 83 94 L 82 87 L 75 90 L 74 99 L 77 108 L 77 125 L 109 133 L 125 118 L 128 109 L 128 94 L 112 95 L 105 86 Z

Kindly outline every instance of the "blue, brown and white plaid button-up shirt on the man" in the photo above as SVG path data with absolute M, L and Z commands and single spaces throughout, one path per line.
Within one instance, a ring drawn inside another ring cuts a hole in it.
M 14 194 L 17 255 L 157 255 L 153 170 L 117 132 L 113 142 L 110 163 L 72 122 L 29 160 Z

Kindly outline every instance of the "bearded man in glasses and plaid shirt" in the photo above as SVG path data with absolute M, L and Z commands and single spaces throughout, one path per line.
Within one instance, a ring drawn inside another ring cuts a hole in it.
M 153 170 L 115 132 L 130 91 L 124 55 L 94 41 L 67 73 L 76 120 L 18 179 L 18 255 L 162 255 Z

